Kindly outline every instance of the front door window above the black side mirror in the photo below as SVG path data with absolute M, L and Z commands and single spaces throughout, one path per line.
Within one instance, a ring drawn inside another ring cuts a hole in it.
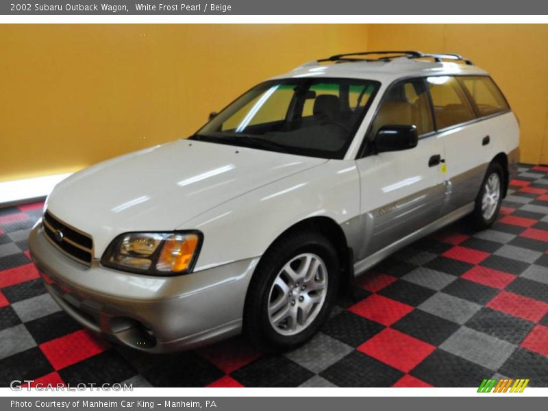
M 414 125 L 419 136 L 434 131 L 432 112 L 422 79 L 395 84 L 386 91 L 371 127 L 374 138 L 385 125 Z

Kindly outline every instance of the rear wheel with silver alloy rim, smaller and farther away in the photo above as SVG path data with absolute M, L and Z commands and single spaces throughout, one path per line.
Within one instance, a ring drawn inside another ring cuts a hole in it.
M 498 182 L 497 188 L 495 188 L 494 182 Z M 502 203 L 503 184 L 506 182 L 502 166 L 498 162 L 492 162 L 487 168 L 482 186 L 475 199 L 475 208 L 470 215 L 474 229 L 487 229 L 497 220 Z

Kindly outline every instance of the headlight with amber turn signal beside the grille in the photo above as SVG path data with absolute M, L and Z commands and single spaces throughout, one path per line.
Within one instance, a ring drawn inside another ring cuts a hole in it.
M 201 247 L 201 233 L 126 233 L 114 238 L 101 264 L 151 275 L 178 275 L 192 270 Z

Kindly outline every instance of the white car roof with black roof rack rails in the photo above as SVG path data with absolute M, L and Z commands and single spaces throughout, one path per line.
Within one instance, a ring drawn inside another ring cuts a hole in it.
M 374 52 L 371 52 L 374 53 Z M 381 52 L 385 53 L 385 52 Z M 419 52 L 413 52 L 419 53 Z M 369 54 L 369 53 L 367 53 Z M 391 83 L 397 79 L 406 77 L 427 77 L 432 75 L 487 75 L 483 69 L 472 64 L 464 58 L 451 58 L 462 62 L 446 62 L 436 56 L 454 55 L 423 55 L 415 57 L 397 55 L 391 58 L 347 59 L 340 58 L 344 55 L 336 55 L 323 60 L 314 60 L 303 64 L 296 69 L 273 77 L 273 79 L 287 79 L 299 77 L 342 77 L 351 79 L 370 79 L 382 83 Z M 434 61 L 418 60 L 432 58 Z M 326 64 L 327 63 L 327 64 Z

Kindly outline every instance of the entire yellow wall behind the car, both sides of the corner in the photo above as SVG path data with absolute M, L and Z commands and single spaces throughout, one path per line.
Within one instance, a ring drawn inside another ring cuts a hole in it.
M 188 136 L 262 79 L 365 49 L 473 59 L 519 116 L 521 160 L 548 163 L 547 46 L 548 25 L 0 25 L 0 181 Z

